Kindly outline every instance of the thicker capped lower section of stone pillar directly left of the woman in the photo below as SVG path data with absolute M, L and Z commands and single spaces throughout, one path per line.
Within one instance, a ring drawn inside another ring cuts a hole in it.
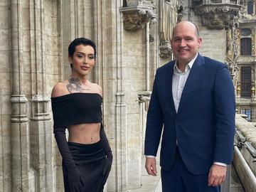
M 52 137 L 46 95 L 33 95 L 31 118 L 31 166 L 35 170 L 35 191 L 53 191 Z

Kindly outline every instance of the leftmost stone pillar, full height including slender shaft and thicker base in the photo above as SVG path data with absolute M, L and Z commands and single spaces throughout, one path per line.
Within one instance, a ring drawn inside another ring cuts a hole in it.
M 11 0 L 11 191 L 28 191 L 29 134 L 27 98 L 23 95 L 21 1 Z

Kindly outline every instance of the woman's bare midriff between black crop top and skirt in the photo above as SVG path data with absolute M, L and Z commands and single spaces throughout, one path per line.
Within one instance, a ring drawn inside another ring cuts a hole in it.
M 100 123 L 75 124 L 68 127 L 68 142 L 94 144 L 100 141 Z

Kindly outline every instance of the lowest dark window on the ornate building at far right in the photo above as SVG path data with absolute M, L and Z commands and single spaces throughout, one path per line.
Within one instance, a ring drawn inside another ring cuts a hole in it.
M 250 67 L 241 67 L 241 97 L 251 97 L 252 70 Z

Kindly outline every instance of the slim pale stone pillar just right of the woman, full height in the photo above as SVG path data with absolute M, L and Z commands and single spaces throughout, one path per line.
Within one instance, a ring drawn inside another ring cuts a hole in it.
M 118 5 L 117 5 L 118 7 Z M 120 23 L 121 17 L 117 17 L 117 23 Z M 122 31 L 122 26 L 117 26 L 118 31 Z M 122 33 L 117 33 L 118 50 L 122 50 Z M 128 161 L 127 161 L 127 105 L 124 97 L 124 63 L 121 55 L 117 54 L 117 93 L 115 105 L 115 119 L 116 119 L 116 138 L 117 144 L 115 146 L 115 161 L 114 166 L 117 171 L 114 181 L 117 183 L 117 191 L 126 191 L 128 185 Z

